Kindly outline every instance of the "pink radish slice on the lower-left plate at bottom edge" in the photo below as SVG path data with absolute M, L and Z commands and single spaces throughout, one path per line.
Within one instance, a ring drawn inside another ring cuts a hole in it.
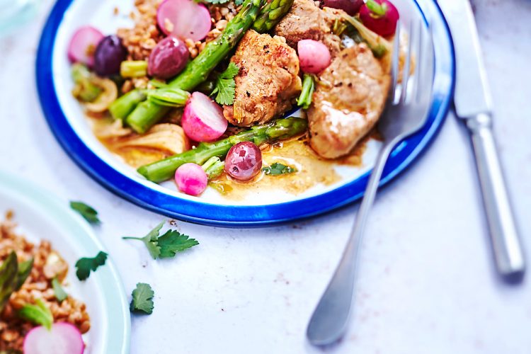
M 24 338 L 24 354 L 81 354 L 84 349 L 81 333 L 66 322 L 52 324 L 50 330 L 35 327 Z

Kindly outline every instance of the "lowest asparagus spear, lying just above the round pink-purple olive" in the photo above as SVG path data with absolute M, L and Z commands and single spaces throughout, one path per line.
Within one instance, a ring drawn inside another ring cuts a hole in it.
M 202 142 L 195 149 L 141 166 L 137 171 L 149 181 L 156 183 L 166 181 L 182 164 L 193 162 L 202 165 L 212 156 L 224 157 L 229 149 L 239 142 L 253 142 L 256 145 L 276 142 L 302 134 L 307 130 L 307 127 L 307 120 L 295 117 L 282 118 L 267 124 L 255 125 L 249 130 L 217 142 Z

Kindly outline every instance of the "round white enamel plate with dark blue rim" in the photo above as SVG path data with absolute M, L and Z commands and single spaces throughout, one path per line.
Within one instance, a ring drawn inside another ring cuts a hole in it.
M 426 125 L 398 144 L 382 175 L 381 185 L 399 177 L 428 149 L 449 109 L 455 81 L 455 56 L 447 23 L 435 0 L 394 0 L 404 23 L 420 18 L 430 26 L 435 50 L 433 103 Z M 81 25 L 93 25 L 105 34 L 131 26 L 127 14 L 132 0 L 58 0 L 40 39 L 36 74 L 42 110 L 55 137 L 76 161 L 105 188 L 154 212 L 189 222 L 225 227 L 259 227 L 290 222 L 336 210 L 359 200 L 375 163 L 379 142 L 371 140 L 360 166 L 336 166 L 341 178 L 331 185 L 318 184 L 297 195 L 278 190 L 249 193 L 246 198 L 223 198 L 215 190 L 200 197 L 179 193 L 173 183 L 157 185 L 143 178 L 111 154 L 91 132 L 79 103 L 72 97 L 67 45 Z

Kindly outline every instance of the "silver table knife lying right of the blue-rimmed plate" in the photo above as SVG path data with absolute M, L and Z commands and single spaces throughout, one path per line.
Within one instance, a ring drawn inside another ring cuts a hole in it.
M 525 257 L 492 134 L 491 94 L 469 0 L 440 0 L 455 46 L 455 111 L 472 137 L 476 166 L 498 273 L 521 280 Z

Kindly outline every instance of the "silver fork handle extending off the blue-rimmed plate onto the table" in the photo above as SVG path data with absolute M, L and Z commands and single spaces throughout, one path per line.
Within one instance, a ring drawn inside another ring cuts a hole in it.
M 350 308 L 353 303 L 358 249 L 362 233 L 365 229 L 370 207 L 375 200 L 385 162 L 393 146 L 394 144 L 384 144 L 379 152 L 341 261 L 321 300 L 319 300 L 319 304 L 312 314 L 312 319 L 309 321 L 306 335 L 309 342 L 314 346 L 326 346 L 334 343 L 346 331 Z

